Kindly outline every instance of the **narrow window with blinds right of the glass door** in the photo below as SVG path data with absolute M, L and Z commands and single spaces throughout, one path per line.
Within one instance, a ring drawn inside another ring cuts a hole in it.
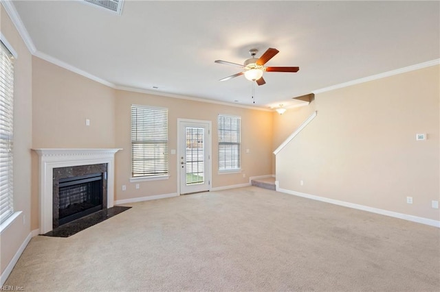
M 219 171 L 240 170 L 240 120 L 219 114 Z

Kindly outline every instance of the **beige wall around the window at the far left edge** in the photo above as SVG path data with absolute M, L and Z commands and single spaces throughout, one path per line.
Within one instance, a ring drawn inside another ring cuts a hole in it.
M 14 210 L 23 211 L 0 235 L 3 273 L 31 231 L 32 56 L 3 5 L 0 10 L 1 33 L 18 54 L 14 63 Z

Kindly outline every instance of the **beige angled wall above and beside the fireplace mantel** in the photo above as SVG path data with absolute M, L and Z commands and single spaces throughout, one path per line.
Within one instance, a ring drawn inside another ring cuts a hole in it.
M 35 56 L 32 82 L 32 148 L 115 148 L 115 89 Z M 32 151 L 32 230 L 38 228 L 39 158 Z

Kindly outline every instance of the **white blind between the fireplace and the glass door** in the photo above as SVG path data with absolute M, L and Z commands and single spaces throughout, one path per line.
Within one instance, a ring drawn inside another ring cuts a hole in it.
M 168 175 L 168 109 L 131 106 L 133 178 Z

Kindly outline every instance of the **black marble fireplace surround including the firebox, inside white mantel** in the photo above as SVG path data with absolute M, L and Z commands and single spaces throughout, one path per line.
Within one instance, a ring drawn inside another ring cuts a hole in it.
M 99 193 L 99 197 L 90 197 L 92 193 Z M 74 219 L 106 209 L 107 163 L 54 168 L 54 229 Z

